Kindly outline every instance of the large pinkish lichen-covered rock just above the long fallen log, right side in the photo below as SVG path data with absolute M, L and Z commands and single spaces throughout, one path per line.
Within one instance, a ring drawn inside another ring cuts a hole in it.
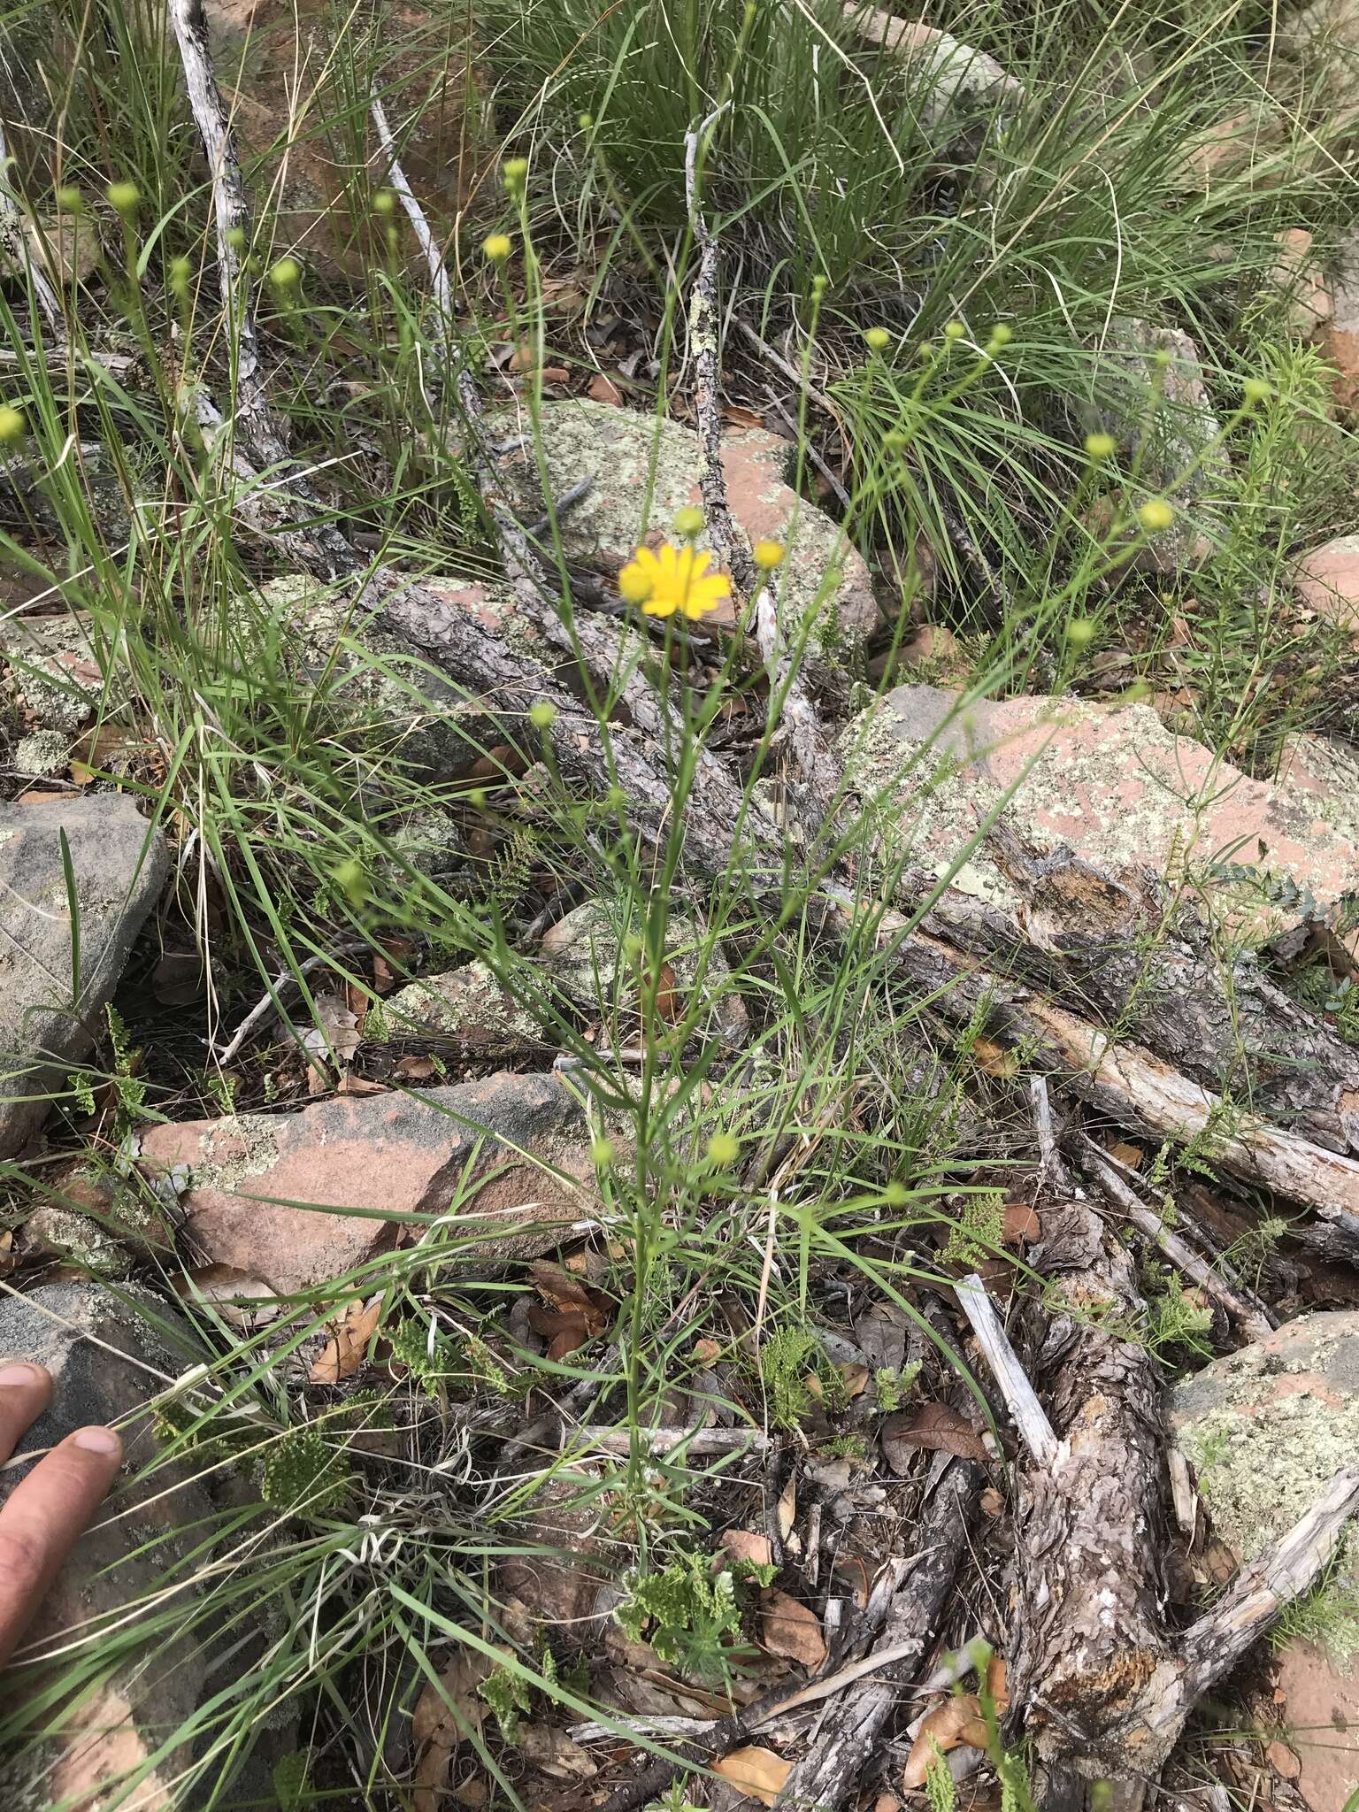
M 884 859 L 1022 910 L 982 830 L 998 814 L 1038 852 L 1073 848 L 1113 875 L 1192 879 L 1256 942 L 1359 892 L 1352 805 L 1323 803 L 1287 774 L 1256 781 L 1174 736 L 1147 705 L 899 687 L 844 732 L 852 783 Z M 1007 797 L 1009 795 L 1009 797 Z M 969 848 L 971 844 L 971 848 Z M 1261 848 L 1263 846 L 1263 848 Z

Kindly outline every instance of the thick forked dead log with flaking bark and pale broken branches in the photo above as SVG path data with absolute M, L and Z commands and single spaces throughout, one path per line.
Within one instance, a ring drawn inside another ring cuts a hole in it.
M 1359 1508 L 1359 1470 L 1335 1479 L 1270 1555 L 1178 1638 L 1163 1624 L 1163 1421 L 1156 1368 L 1136 1339 L 1129 1256 L 1084 1203 L 1044 1207 L 1031 1263 L 1051 1314 L 1035 1372 L 1038 1404 L 980 1279 L 960 1299 L 988 1328 L 982 1350 L 1026 1442 L 1018 1473 L 1009 1692 L 1049 1803 L 1109 1781 L 1142 1805 L 1201 1694 L 1317 1578 Z M 989 1326 L 988 1326 L 989 1323 Z M 1017 1386 L 1017 1377 L 1022 1381 Z M 1033 1401 L 1031 1401 L 1033 1399 Z

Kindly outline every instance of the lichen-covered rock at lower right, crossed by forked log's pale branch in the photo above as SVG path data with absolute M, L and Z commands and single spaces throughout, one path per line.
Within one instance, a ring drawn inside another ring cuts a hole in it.
M 1359 1453 L 1359 1314 L 1303 1316 L 1214 1359 L 1171 1392 L 1169 1421 L 1214 1531 L 1238 1560 L 1254 1560 Z M 1352 1533 L 1328 1591 L 1359 1591 L 1357 1558 Z M 1277 1687 L 1303 1805 L 1343 1812 L 1359 1787 L 1354 1658 L 1290 1642 Z

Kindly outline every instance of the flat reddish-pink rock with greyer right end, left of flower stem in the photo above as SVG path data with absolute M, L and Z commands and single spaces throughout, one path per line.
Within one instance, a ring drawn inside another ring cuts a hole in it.
M 400 1229 L 391 1212 L 451 1210 L 469 1259 L 509 1261 L 549 1252 L 598 1209 L 585 1118 L 553 1076 L 159 1125 L 141 1158 L 183 1176 L 185 1232 L 203 1259 L 279 1294 L 384 1250 Z

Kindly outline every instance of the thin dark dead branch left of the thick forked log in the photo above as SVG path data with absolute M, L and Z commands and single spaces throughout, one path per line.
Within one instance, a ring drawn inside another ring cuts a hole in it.
M 864 1763 L 901 1703 L 902 1687 L 917 1678 L 933 1647 L 968 1547 L 980 1477 L 971 1460 L 953 1460 L 940 1479 L 920 1529 L 920 1557 L 897 1587 L 882 1633 L 870 1649 L 870 1656 L 892 1649 L 897 1660 L 855 1682 L 832 1705 L 779 1788 L 776 1808 L 835 1812 L 859 1785 Z

